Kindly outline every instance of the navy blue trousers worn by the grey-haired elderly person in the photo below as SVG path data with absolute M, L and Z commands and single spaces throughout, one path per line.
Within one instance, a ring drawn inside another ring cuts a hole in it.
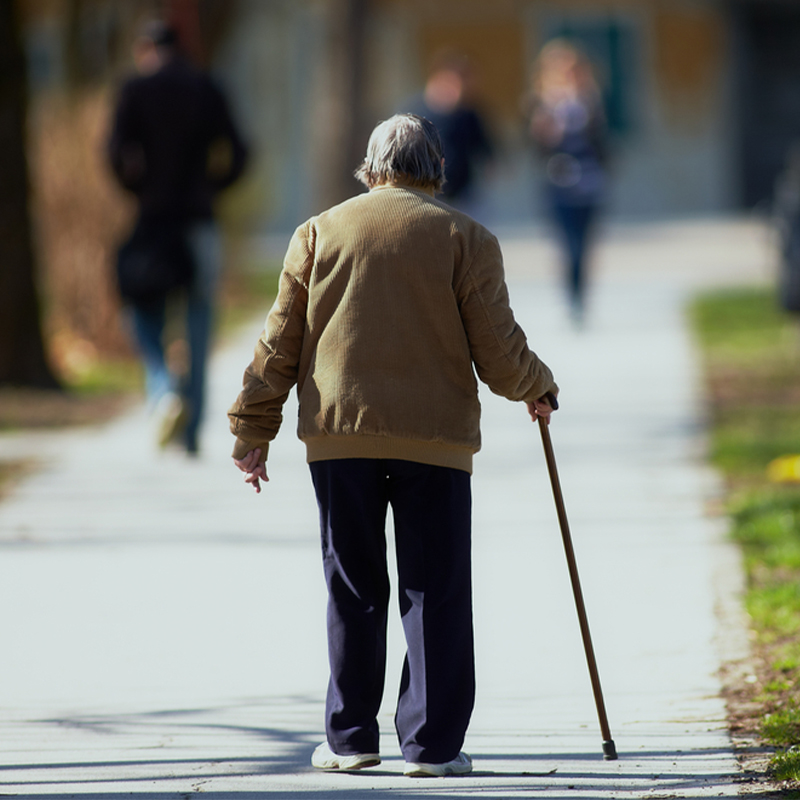
M 328 586 L 328 744 L 377 753 L 386 671 L 386 513 L 407 653 L 395 727 L 406 761 L 458 755 L 475 702 L 467 472 L 393 459 L 316 461 Z

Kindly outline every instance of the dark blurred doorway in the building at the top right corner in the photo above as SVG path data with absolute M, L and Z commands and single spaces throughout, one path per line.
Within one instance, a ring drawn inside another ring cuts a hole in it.
M 770 201 L 800 141 L 800 3 L 744 0 L 733 8 L 742 201 Z

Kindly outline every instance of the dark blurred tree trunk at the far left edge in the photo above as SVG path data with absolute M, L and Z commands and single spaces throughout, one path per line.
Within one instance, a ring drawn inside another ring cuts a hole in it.
M 47 363 L 29 212 L 27 74 L 15 0 L 0 2 L 0 384 L 57 388 Z

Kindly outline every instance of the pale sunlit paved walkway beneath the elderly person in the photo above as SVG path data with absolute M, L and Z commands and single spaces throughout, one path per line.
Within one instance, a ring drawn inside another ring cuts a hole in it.
M 682 316 L 702 284 L 769 277 L 747 221 L 615 228 L 584 330 L 554 254 L 501 232 L 512 301 L 552 365 L 552 426 L 609 720 L 605 762 L 538 431 L 490 395 L 476 460 L 478 698 L 473 775 L 384 763 L 320 774 L 326 682 L 316 510 L 294 410 L 256 496 L 228 458 L 225 409 L 258 326 L 213 369 L 204 452 L 158 454 L 135 411 L 97 430 L 0 437 L 42 469 L 0 504 L 0 796 L 148 798 L 735 797 L 721 660 L 744 652 L 739 567 L 702 463 Z M 32 452 L 31 452 L 32 451 Z

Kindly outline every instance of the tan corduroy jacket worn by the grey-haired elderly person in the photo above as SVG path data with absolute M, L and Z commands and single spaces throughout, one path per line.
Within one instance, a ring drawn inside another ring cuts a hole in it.
M 398 458 L 472 471 L 476 375 L 509 400 L 558 388 L 508 303 L 497 239 L 425 191 L 383 185 L 291 240 L 278 296 L 229 411 L 242 458 L 296 385 L 308 461 Z

